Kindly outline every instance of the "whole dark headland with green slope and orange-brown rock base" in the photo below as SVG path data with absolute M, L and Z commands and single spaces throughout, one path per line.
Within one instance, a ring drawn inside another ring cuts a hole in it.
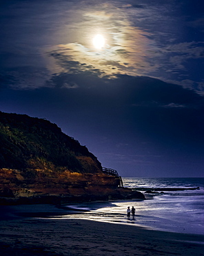
M 0 203 L 125 199 L 87 147 L 48 120 L 0 112 Z

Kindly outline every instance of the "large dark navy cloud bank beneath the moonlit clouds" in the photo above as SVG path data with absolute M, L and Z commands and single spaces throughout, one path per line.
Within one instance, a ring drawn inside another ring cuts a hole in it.
M 143 143 L 149 140 L 189 148 L 204 143 L 204 100 L 190 89 L 150 77 L 106 78 L 91 72 L 61 73 L 51 82 L 54 95 L 66 102 L 63 109 L 103 134 L 105 143 L 114 140 L 115 149 L 129 150 L 133 141 L 140 149 L 153 147 Z M 77 88 L 63 86 L 70 83 Z

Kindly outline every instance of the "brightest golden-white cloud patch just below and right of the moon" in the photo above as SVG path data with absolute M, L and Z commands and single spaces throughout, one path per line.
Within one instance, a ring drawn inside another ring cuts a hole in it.
M 142 41 L 146 41 L 145 37 L 130 27 L 120 28 L 120 30 L 118 33 L 110 33 L 114 43 L 107 45 L 102 51 L 95 51 L 90 41 L 88 46 L 76 43 L 55 46 L 52 50 L 50 49 L 48 55 L 54 57 L 61 71 L 70 73 L 97 71 L 100 75 L 117 73 L 137 75 L 139 72 L 143 73 L 142 69 L 145 66 L 148 70 L 150 66 L 148 67 L 143 57 L 146 54 L 140 46 L 143 45 Z M 129 37 L 128 30 L 131 30 Z M 121 37 L 124 38 L 121 39 Z

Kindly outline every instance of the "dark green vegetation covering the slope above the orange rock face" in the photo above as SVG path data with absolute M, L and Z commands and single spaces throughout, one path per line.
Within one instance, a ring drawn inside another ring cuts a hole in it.
M 102 172 L 87 147 L 48 120 L 0 112 L 0 168 Z

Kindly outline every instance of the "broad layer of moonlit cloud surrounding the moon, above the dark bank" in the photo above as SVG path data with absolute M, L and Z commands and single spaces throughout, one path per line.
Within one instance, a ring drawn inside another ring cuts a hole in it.
M 192 80 L 196 84 L 191 88 L 201 88 L 198 83 L 202 82 L 203 42 L 201 39 L 192 41 L 182 34 L 189 26 L 192 28 L 190 21 L 184 22 L 183 3 L 177 3 L 174 12 L 170 11 L 170 2 L 161 5 L 156 2 L 150 5 L 147 1 L 137 4 L 123 1 L 60 3 L 56 8 L 54 1 L 50 1 L 48 8 L 46 1 L 25 5 L 19 1 L 20 12 L 16 12 L 14 6 L 5 9 L 1 65 L 13 69 L 21 66 L 18 73 L 3 71 L 4 77 L 12 76 L 11 84 L 18 81 L 19 88 L 36 88 L 46 86 L 47 75 L 52 73 L 89 71 L 99 77 L 150 76 L 181 86 L 185 86 L 185 80 Z M 8 22 L 10 14 L 12 22 Z M 191 19 L 193 28 L 198 29 L 196 33 L 200 31 L 198 21 L 201 19 Z M 105 37 L 103 51 L 96 51 L 92 46 L 96 33 Z M 200 63 L 194 71 L 194 61 L 198 60 Z M 37 64 L 47 68 L 44 81 L 43 71 L 23 71 L 23 66 Z

